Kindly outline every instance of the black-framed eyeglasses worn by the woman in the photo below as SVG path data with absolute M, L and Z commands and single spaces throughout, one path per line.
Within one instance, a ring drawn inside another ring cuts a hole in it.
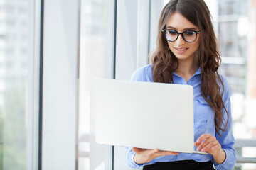
M 178 31 L 176 30 L 162 30 L 166 40 L 170 41 L 170 42 L 174 42 L 178 39 L 178 35 L 181 34 L 183 40 L 185 40 L 186 42 L 194 42 L 197 38 L 198 33 L 201 32 L 201 30 L 185 30 L 183 33 L 178 33 Z

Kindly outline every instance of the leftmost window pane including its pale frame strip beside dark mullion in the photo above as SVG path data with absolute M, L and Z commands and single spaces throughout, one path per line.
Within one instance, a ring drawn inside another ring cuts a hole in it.
M 0 1 L 0 169 L 4 170 L 34 169 L 37 157 L 34 5 L 29 0 Z

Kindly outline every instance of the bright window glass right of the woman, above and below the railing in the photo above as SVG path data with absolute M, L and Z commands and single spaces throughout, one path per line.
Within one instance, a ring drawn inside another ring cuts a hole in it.
M 231 93 L 233 135 L 256 137 L 255 25 L 252 1 L 218 1 L 218 32 L 223 64 L 220 74 L 228 79 Z M 254 148 L 237 148 L 238 157 L 256 157 Z M 236 164 L 235 169 L 256 169 L 256 164 Z

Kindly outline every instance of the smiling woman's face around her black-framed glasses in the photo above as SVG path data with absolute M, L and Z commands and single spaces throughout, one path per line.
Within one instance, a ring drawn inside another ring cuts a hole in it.
M 185 30 L 196 30 L 199 28 L 190 21 L 188 21 L 181 13 L 173 13 L 166 23 L 166 29 L 176 30 L 178 33 L 183 33 Z M 178 58 L 178 60 L 194 59 L 196 50 L 198 50 L 200 43 L 200 33 L 198 33 L 196 41 L 186 42 L 183 40 L 181 34 L 174 42 L 168 42 L 171 52 Z

